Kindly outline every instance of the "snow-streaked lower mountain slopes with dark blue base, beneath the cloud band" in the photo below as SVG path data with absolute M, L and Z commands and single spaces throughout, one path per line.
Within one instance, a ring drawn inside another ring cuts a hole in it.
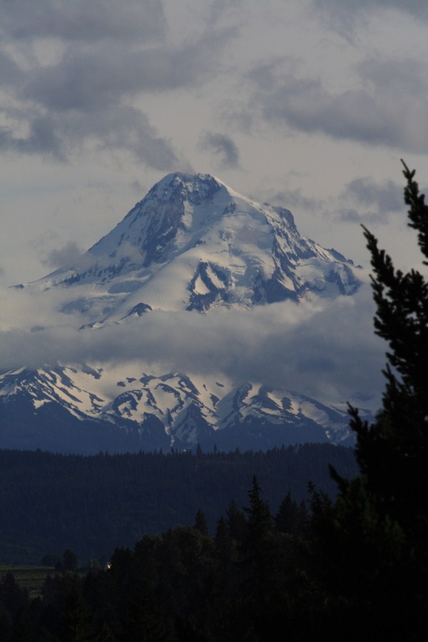
M 180 372 L 138 374 L 138 379 L 123 377 L 122 366 L 108 371 L 56 366 L 2 374 L 1 447 L 43 444 L 54 452 L 86 454 L 197 444 L 233 450 L 336 443 L 350 437 L 344 409 L 302 394 Z M 104 390 L 113 386 L 116 392 L 107 396 Z

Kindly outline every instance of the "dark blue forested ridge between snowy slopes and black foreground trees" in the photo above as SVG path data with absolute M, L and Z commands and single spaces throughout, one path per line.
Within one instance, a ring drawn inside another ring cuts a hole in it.
M 352 450 L 304 444 L 268 452 L 98 454 L 0 451 L 0 562 L 35 564 L 72 549 L 81 564 L 133 546 L 145 534 L 193 524 L 203 509 L 211 533 L 225 506 L 243 506 L 256 474 L 276 511 L 312 481 L 332 496 L 328 464 L 357 471 Z

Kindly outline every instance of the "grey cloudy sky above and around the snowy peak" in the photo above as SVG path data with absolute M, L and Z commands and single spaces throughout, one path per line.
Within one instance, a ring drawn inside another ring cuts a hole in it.
M 86 250 L 174 170 L 283 205 L 367 265 L 419 265 L 400 158 L 428 185 L 426 0 L 1 0 L 4 285 Z

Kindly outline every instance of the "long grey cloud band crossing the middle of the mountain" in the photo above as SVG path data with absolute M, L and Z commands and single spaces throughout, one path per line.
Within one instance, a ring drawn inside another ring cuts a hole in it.
M 384 345 L 373 333 L 369 287 L 354 297 L 312 305 L 280 303 L 207 315 L 156 311 L 80 331 L 80 315 L 56 312 L 64 296 L 70 293 L 8 293 L 14 312 L 2 335 L 4 365 L 139 360 L 148 372 L 222 372 L 235 382 L 262 382 L 330 402 L 373 397 L 382 389 Z M 31 327 L 38 328 L 36 335 Z

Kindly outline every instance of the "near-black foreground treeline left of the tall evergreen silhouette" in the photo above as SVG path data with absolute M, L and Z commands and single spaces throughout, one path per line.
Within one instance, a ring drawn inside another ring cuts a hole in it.
M 48 576 L 33 600 L 7 574 L 1 640 L 270 641 L 290 616 L 287 636 L 295 639 L 307 616 L 297 599 L 305 605 L 309 595 L 305 504 L 287 494 L 272 516 L 253 477 L 243 509 L 230 501 L 213 536 L 202 510 L 193 521 L 144 536 L 133 550 L 117 548 L 110 569 Z

